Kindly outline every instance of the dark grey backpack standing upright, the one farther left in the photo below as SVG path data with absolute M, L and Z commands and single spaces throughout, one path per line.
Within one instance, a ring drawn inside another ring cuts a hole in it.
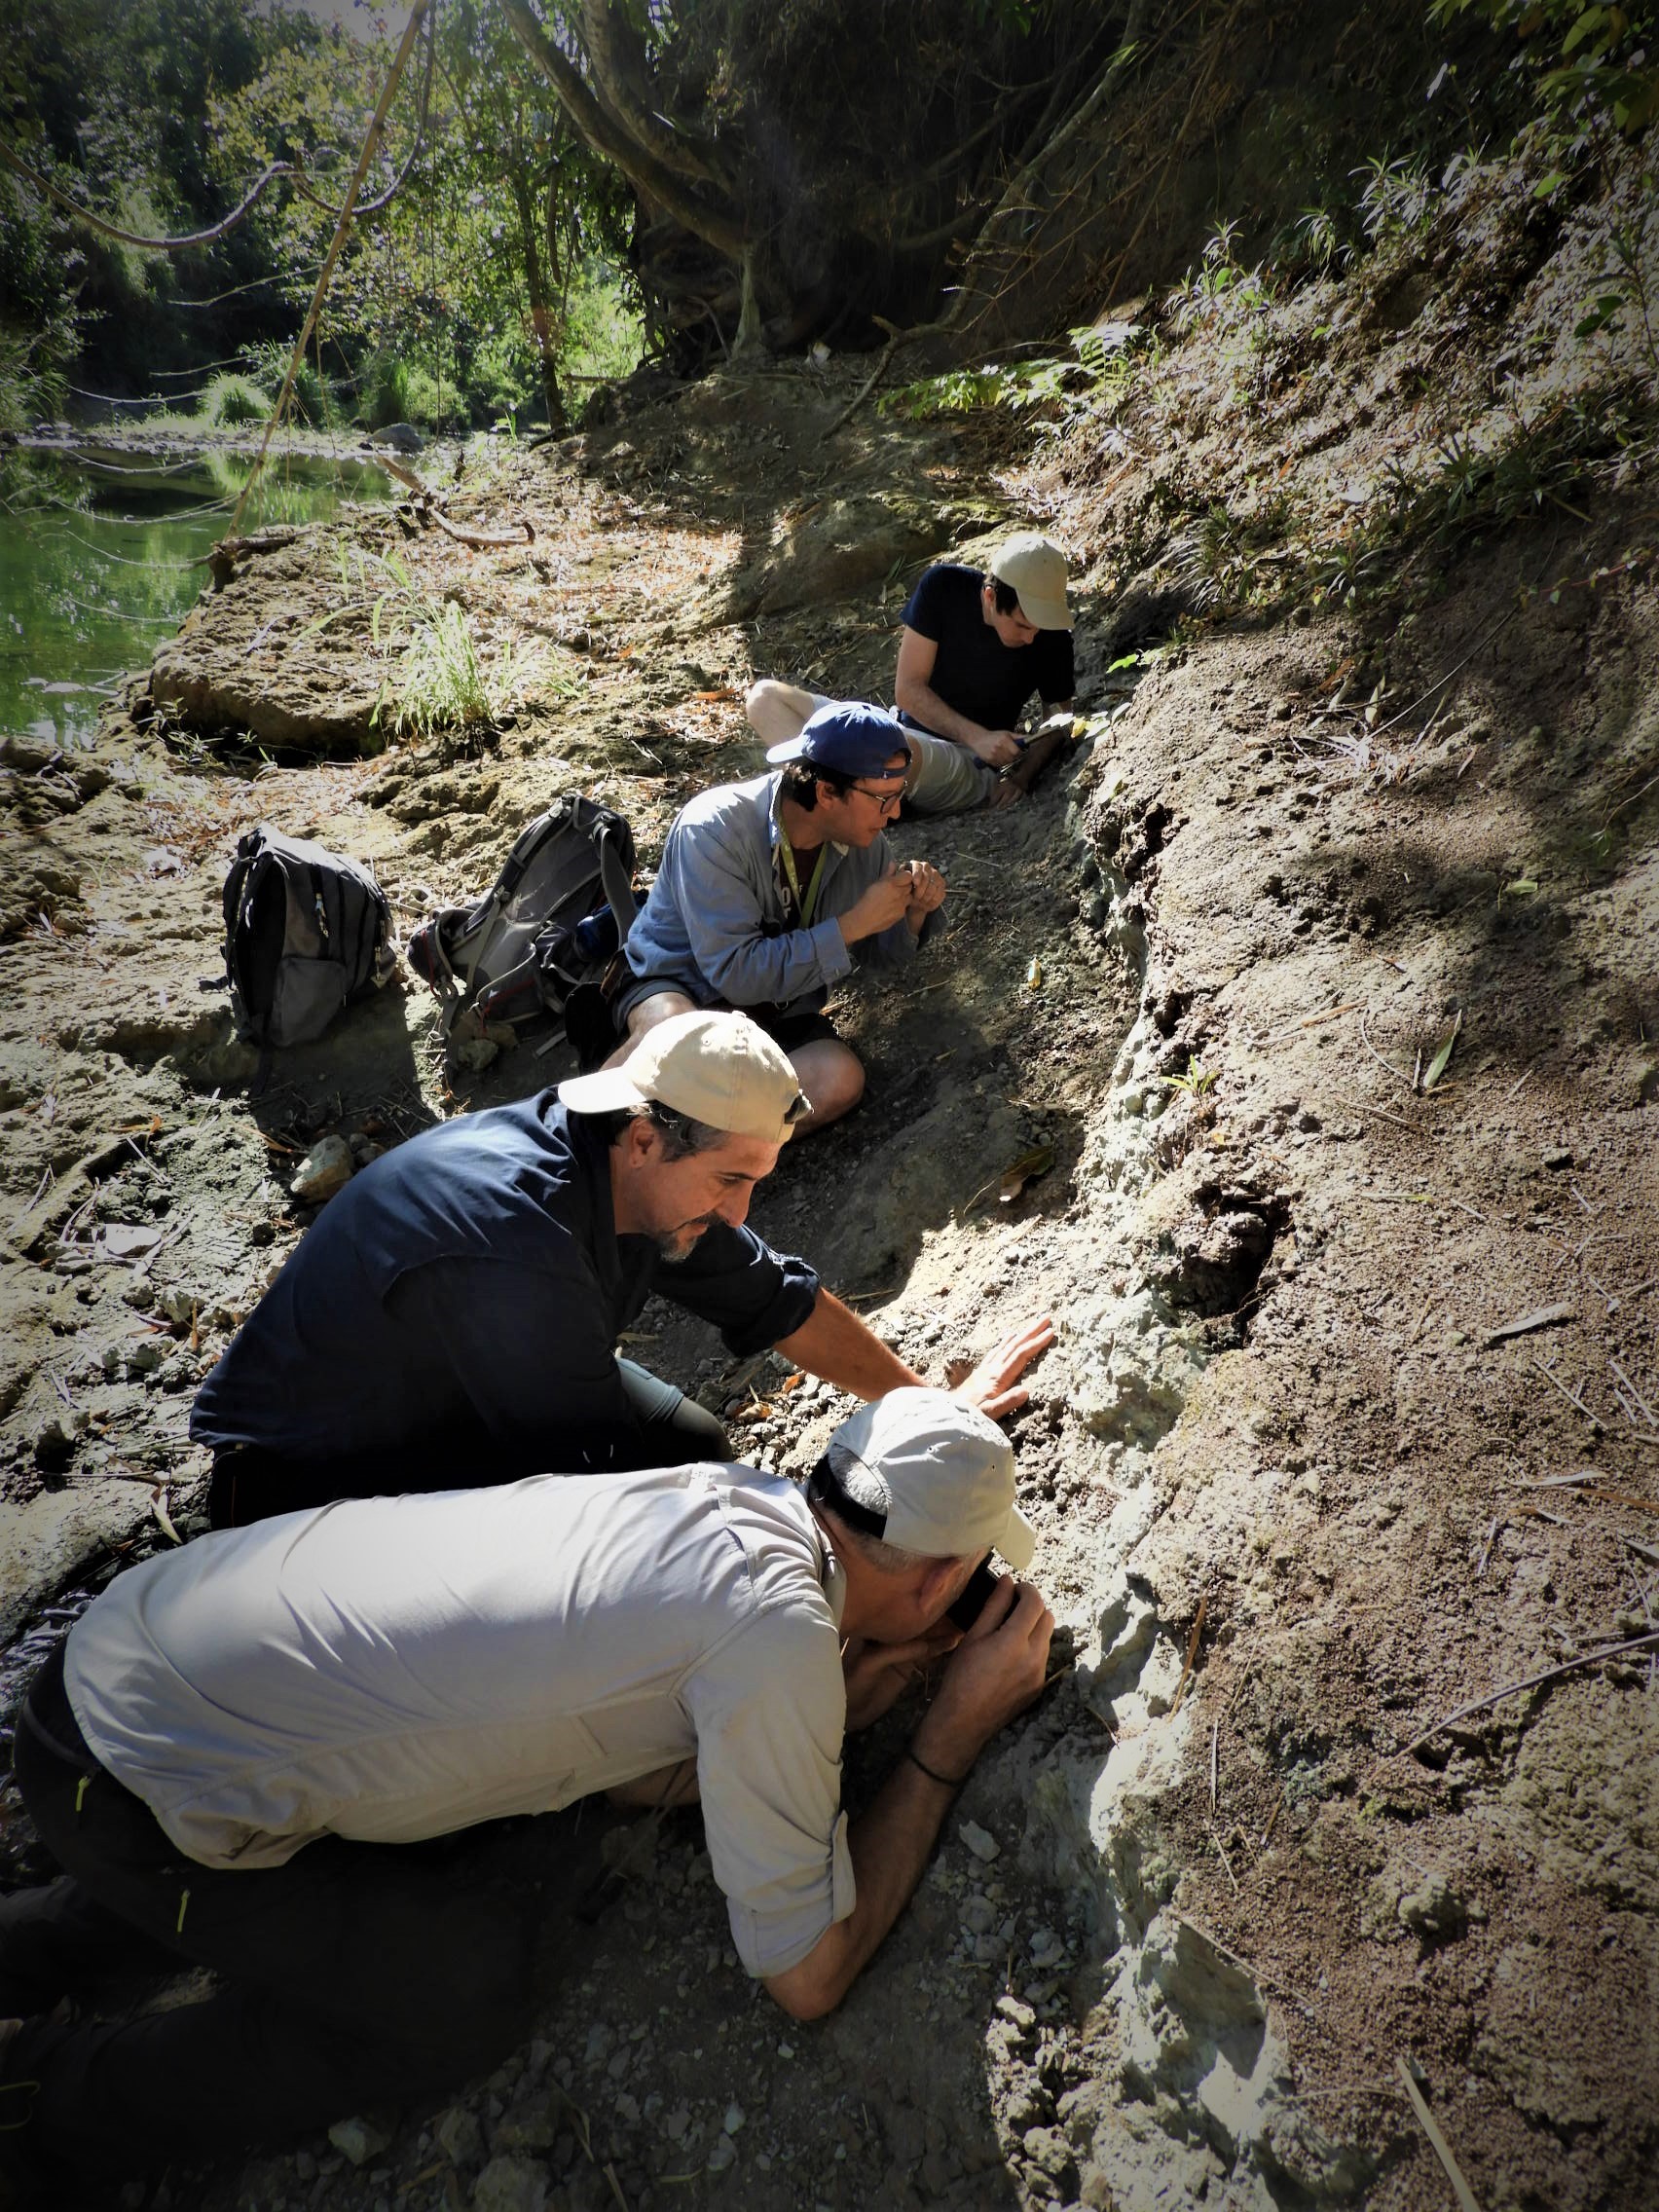
M 223 905 L 230 1018 L 261 1051 L 321 1037 L 347 1000 L 392 973 L 385 891 L 323 845 L 250 830 Z

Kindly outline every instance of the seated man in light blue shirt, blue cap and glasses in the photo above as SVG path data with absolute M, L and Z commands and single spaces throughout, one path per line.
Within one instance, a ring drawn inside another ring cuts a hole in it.
M 865 1071 L 823 1013 L 854 964 L 900 969 L 945 902 L 927 860 L 883 836 L 905 799 L 909 741 L 885 710 L 818 708 L 768 752 L 774 774 L 726 783 L 681 810 L 615 1000 L 619 1064 L 657 1022 L 737 1006 L 794 1062 L 812 1113 L 796 1135 L 858 1104 Z

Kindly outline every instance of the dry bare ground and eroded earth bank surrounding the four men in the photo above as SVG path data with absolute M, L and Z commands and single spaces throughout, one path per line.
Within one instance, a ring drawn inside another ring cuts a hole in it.
M 1420 312 L 1475 263 L 1429 257 Z M 1553 268 L 1548 241 L 1515 265 L 1491 352 L 1506 312 L 1548 316 Z M 1298 389 L 1354 389 L 1396 310 L 1356 310 Z M 1225 343 L 1192 332 L 1148 409 L 1206 363 L 1225 385 Z M 241 664 L 268 699 L 372 699 L 363 555 L 398 551 L 487 639 L 544 646 L 482 754 L 365 761 L 356 730 L 352 759 L 261 768 L 208 745 L 234 714 L 192 726 L 144 686 L 88 757 L 11 748 L 0 1604 L 44 1635 L 58 1590 L 190 1535 L 190 1389 L 303 1234 L 288 1179 L 316 1135 L 361 1152 L 564 1073 L 531 1042 L 447 1068 L 411 984 L 250 1099 L 252 1055 L 197 989 L 234 834 L 263 818 L 372 860 L 405 929 L 575 783 L 650 854 L 690 792 L 757 765 L 752 675 L 889 695 L 920 562 L 1037 513 L 1082 555 L 1088 728 L 1022 807 L 898 832 L 945 869 L 949 929 L 902 989 L 843 995 L 867 1102 L 754 1217 L 933 1376 L 1055 1314 L 1011 1433 L 1075 1666 L 980 1761 L 823 2026 L 743 1982 L 695 1818 L 617 1829 L 617 1898 L 564 1931 L 540 2035 L 491 2081 L 133 2203 L 1407 2212 L 1449 2197 L 1409 2059 L 1482 2205 L 1637 2212 L 1659 2157 L 1652 1661 L 1420 1739 L 1650 1624 L 1650 480 L 1597 478 L 1590 520 L 1460 538 L 1409 619 L 1307 584 L 1292 549 L 1276 604 L 1113 666 L 1214 582 L 1124 535 L 1170 462 L 1152 416 L 1033 469 L 867 414 L 823 445 L 845 396 L 776 374 L 641 398 L 451 493 L 453 522 L 522 515 L 533 544 L 363 518 L 248 557 L 170 648 L 208 688 Z M 1349 509 L 1422 453 L 1402 378 L 1367 405 Z M 1241 411 L 1179 465 L 1325 469 L 1332 440 L 1303 449 L 1292 420 Z M 316 628 L 343 599 L 361 619 Z M 805 1469 L 843 1411 L 661 1310 L 641 1334 L 757 1464 Z M 854 1801 L 902 1725 L 849 1747 Z M 557 1887 L 599 1845 L 566 1820 L 502 1847 Z

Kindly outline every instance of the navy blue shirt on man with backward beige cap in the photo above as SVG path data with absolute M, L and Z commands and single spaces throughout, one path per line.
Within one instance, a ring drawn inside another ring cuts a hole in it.
M 807 1321 L 818 1276 L 726 1223 L 675 1263 L 617 1237 L 606 1146 L 553 1091 L 462 1115 L 330 1199 L 201 1385 L 190 1436 L 361 1455 L 407 1489 L 447 1464 L 456 1489 L 639 1467 L 615 1345 L 653 1290 L 741 1358 Z

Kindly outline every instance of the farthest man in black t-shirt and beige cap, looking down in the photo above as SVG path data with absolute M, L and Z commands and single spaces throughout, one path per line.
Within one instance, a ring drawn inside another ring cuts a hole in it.
M 922 814 L 960 814 L 1020 794 L 1024 739 L 1015 723 L 1033 692 L 1071 708 L 1073 653 L 1066 555 L 1020 531 L 987 571 L 936 562 L 905 602 L 896 699 L 911 737 L 907 794 Z M 748 695 L 748 719 L 768 739 L 792 737 L 825 701 L 794 684 Z

